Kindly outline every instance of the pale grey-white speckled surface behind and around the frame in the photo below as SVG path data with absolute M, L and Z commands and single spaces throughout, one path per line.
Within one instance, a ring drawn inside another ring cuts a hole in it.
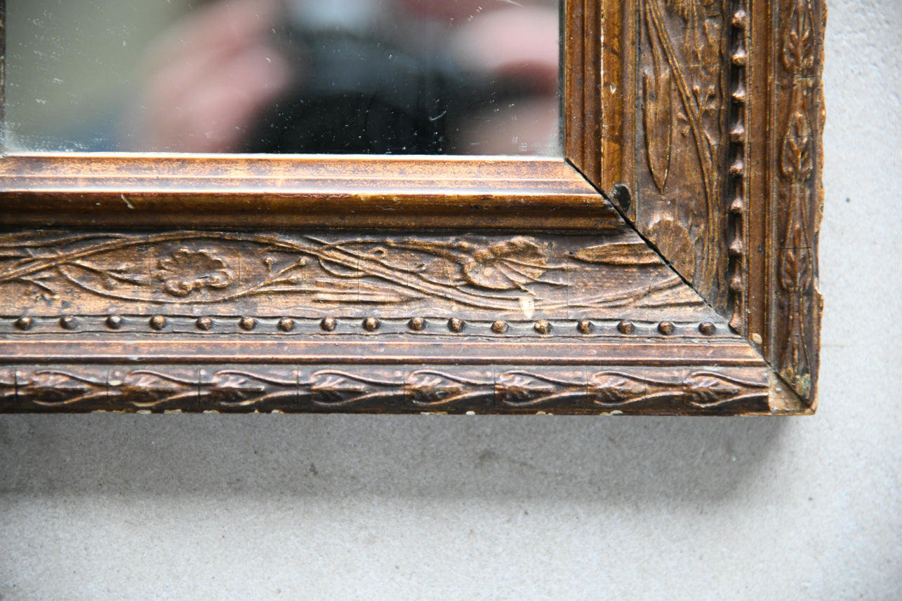
M 827 37 L 795 419 L 5 416 L 0 599 L 898 599 L 902 3 Z

